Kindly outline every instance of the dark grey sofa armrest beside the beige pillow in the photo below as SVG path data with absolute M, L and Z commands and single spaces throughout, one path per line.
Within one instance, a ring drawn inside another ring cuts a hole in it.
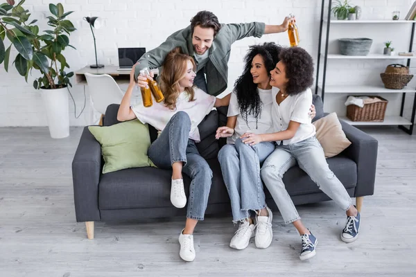
M 358 176 L 354 197 L 373 195 L 379 142 L 343 120 L 340 120 L 340 123 L 347 139 L 352 143 L 343 154 L 357 164 Z

